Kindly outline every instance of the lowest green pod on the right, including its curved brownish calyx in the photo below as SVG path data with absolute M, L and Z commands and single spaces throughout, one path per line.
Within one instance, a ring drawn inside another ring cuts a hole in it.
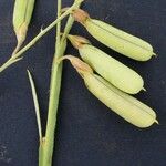
M 94 74 L 86 63 L 71 55 L 64 56 L 63 59 L 71 61 L 83 77 L 89 91 L 121 117 L 141 128 L 149 127 L 152 124 L 158 123 L 156 113 L 151 107 L 117 90 L 103 77 Z

